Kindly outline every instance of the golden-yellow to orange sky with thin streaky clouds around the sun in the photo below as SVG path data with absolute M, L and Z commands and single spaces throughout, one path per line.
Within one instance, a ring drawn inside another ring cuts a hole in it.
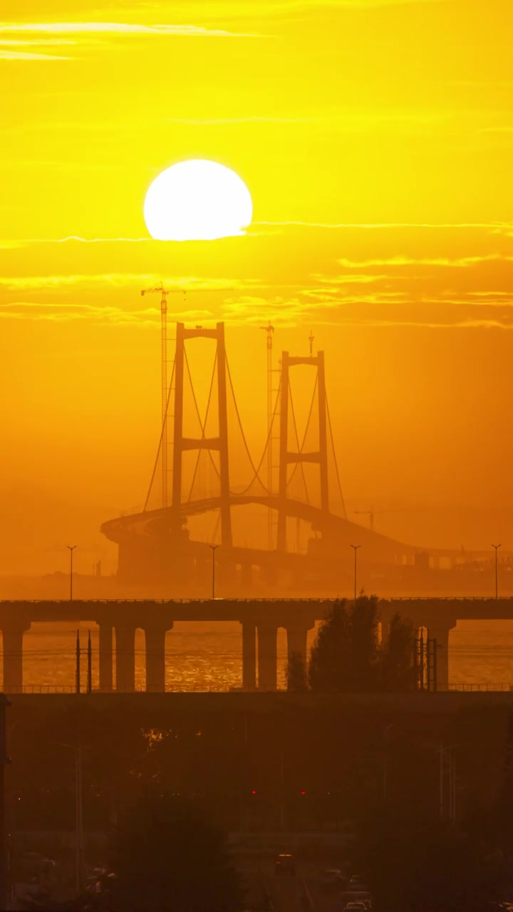
M 313 329 L 350 511 L 513 546 L 510 0 L 3 10 L 0 573 L 63 568 L 71 538 L 113 566 L 99 524 L 143 503 L 158 440 L 161 280 L 196 288 L 172 316 L 225 319 L 256 457 L 259 326 L 276 352 Z M 145 192 L 188 158 L 246 181 L 246 237 L 149 239 Z

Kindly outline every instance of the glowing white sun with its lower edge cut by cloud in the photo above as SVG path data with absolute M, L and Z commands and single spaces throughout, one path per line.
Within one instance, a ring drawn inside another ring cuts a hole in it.
M 244 234 L 252 214 L 245 182 L 225 165 L 205 159 L 166 168 L 144 200 L 144 221 L 156 241 L 214 241 Z

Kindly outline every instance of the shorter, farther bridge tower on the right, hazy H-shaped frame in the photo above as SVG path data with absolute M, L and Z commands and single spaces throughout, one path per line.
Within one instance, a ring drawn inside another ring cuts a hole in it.
M 310 345 L 311 349 L 311 345 Z M 289 370 L 298 365 L 317 368 L 317 389 L 319 403 L 319 450 L 298 452 L 288 450 L 288 395 Z M 326 426 L 326 375 L 324 371 L 324 352 L 309 358 L 291 358 L 288 351 L 281 355 L 281 392 L 279 413 L 279 470 L 278 470 L 278 508 L 277 508 L 277 551 L 287 550 L 287 469 L 291 462 L 314 462 L 319 465 L 320 509 L 329 513 L 328 497 L 328 439 Z

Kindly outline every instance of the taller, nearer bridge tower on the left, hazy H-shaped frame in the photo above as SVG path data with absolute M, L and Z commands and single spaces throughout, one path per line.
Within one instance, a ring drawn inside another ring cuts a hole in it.
M 217 348 L 217 403 L 218 435 L 213 438 L 183 437 L 183 365 L 186 339 L 215 339 Z M 176 353 L 174 360 L 174 428 L 173 428 L 173 494 L 172 510 L 178 528 L 181 527 L 183 453 L 188 450 L 210 450 L 219 453 L 221 487 L 221 543 L 232 544 L 232 518 L 230 513 L 230 476 L 228 470 L 228 417 L 226 406 L 226 349 L 225 324 L 215 329 L 198 327 L 188 329 L 176 324 Z

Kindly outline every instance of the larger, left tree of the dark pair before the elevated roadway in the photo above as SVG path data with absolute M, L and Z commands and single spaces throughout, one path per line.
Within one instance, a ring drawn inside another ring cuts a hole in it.
M 311 650 L 309 685 L 325 693 L 372 692 L 377 689 L 378 599 L 336 602 Z

